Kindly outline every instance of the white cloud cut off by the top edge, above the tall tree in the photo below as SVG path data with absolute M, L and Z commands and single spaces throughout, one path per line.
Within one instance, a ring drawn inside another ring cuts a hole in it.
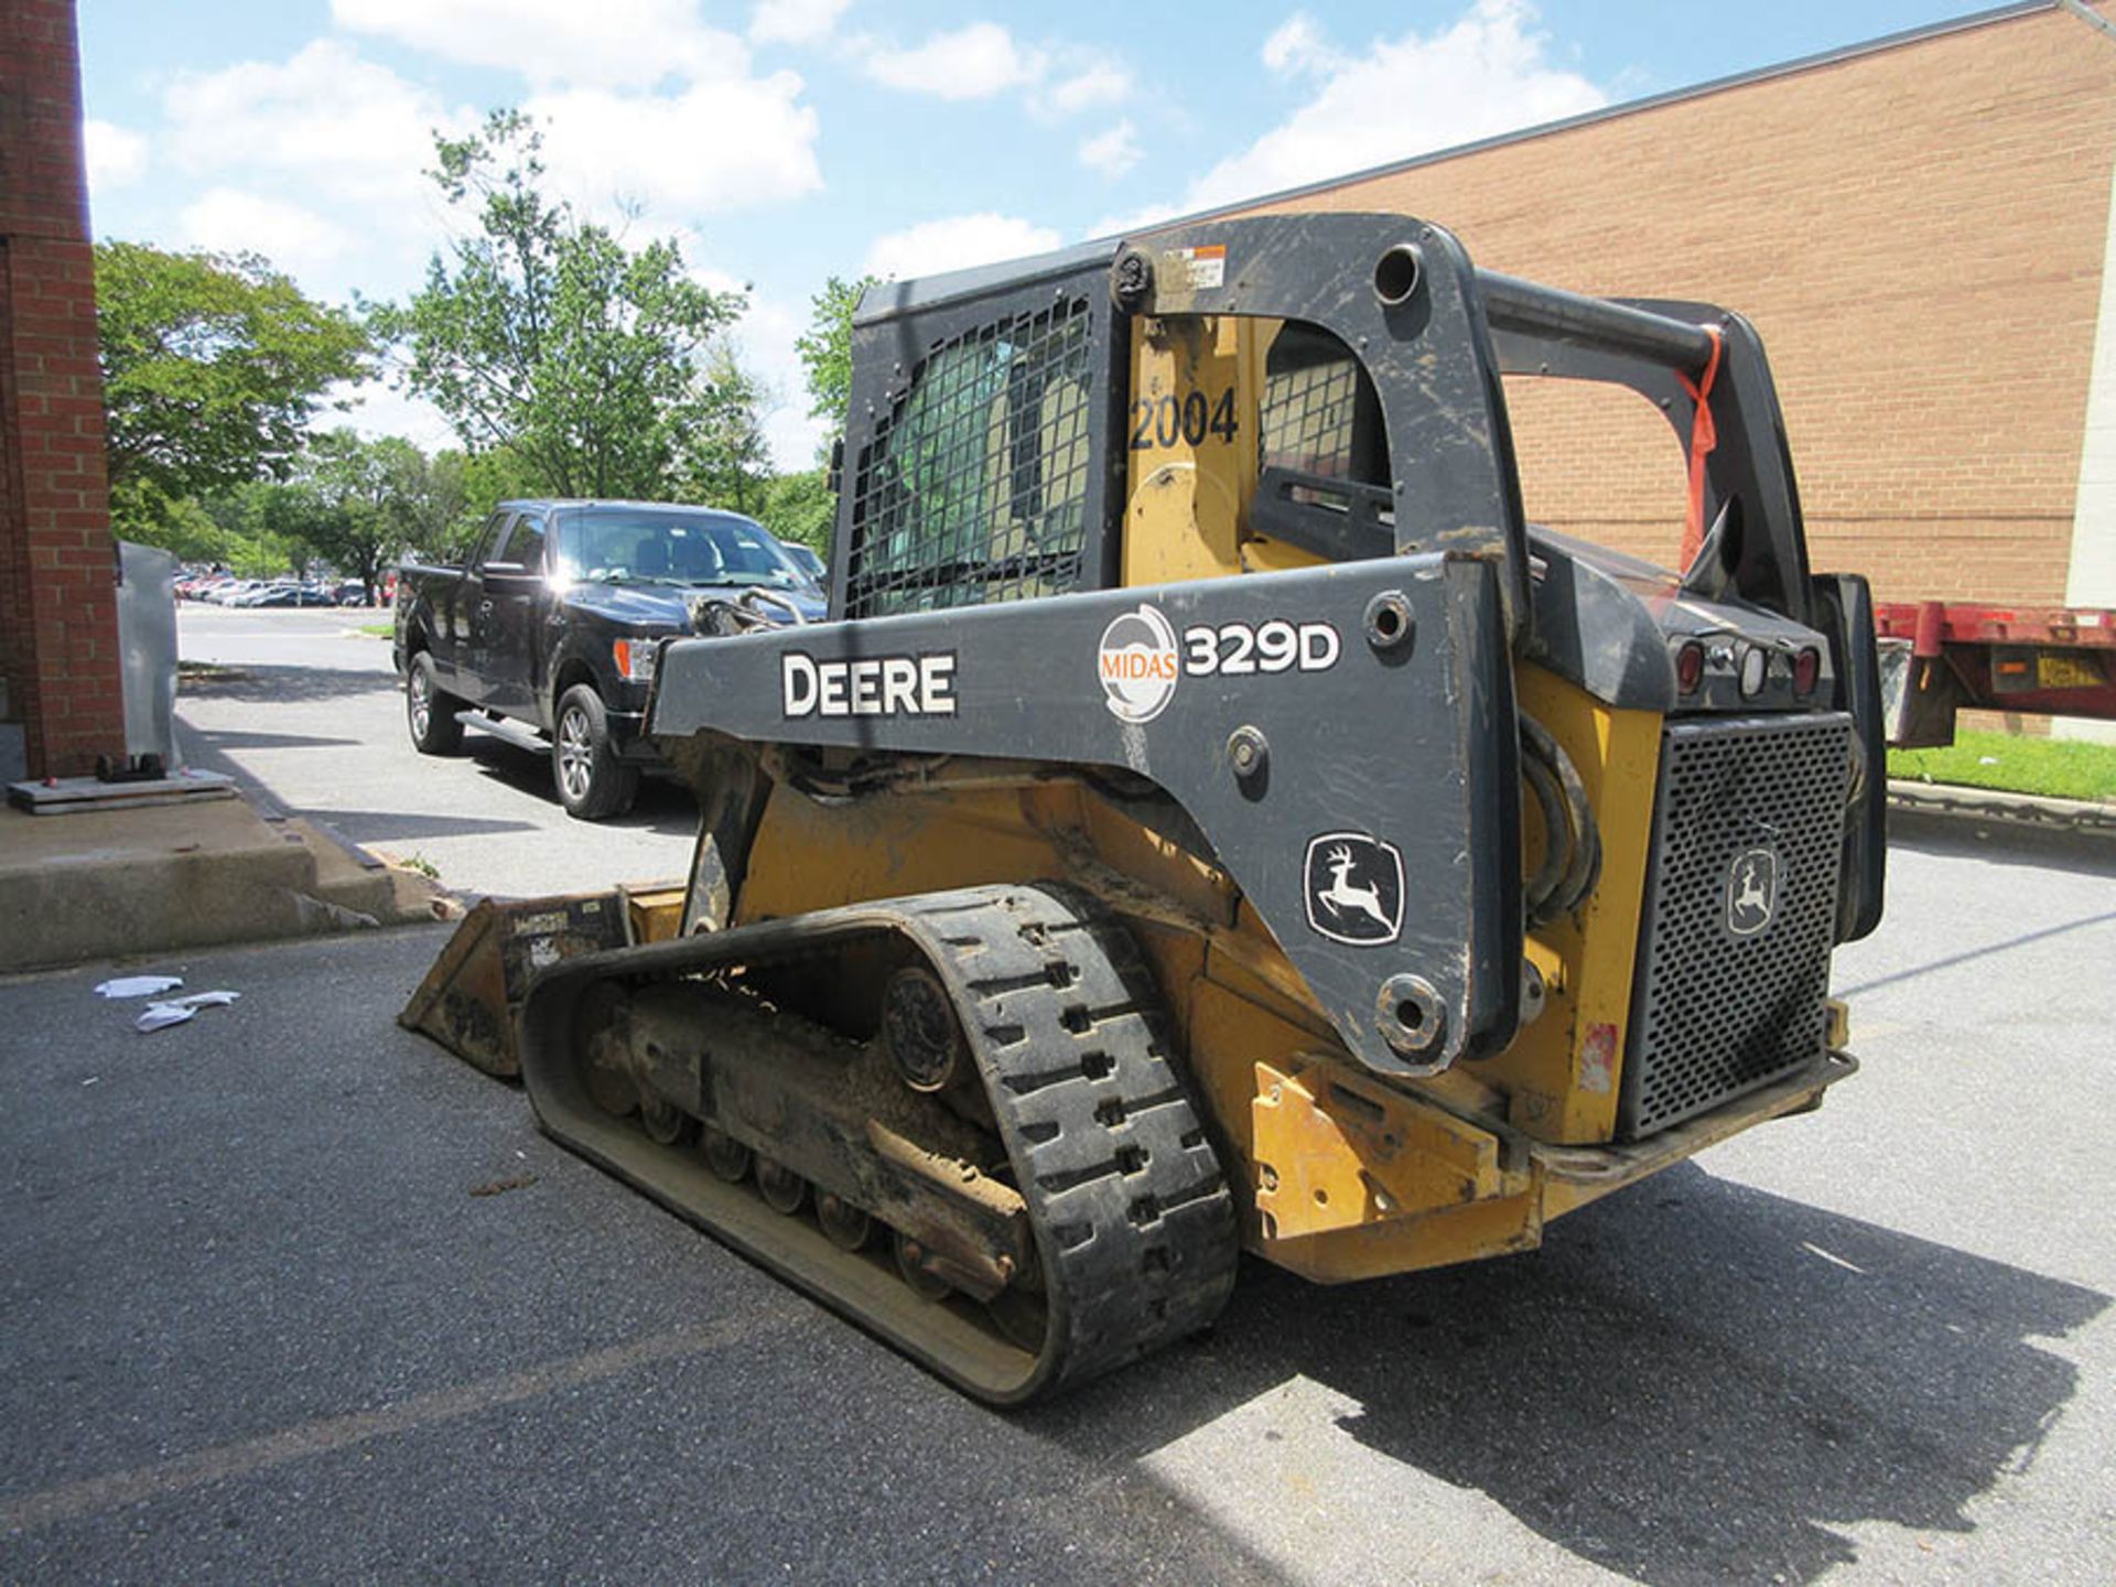
M 537 85 L 647 87 L 671 74 L 749 72 L 749 51 L 707 28 L 698 0 L 330 0 L 330 17 L 347 32 Z

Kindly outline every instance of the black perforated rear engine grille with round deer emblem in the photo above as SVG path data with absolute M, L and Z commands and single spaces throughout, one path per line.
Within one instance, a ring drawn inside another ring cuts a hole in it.
M 1623 1138 L 1822 1054 L 1849 774 L 1843 713 L 1667 726 Z

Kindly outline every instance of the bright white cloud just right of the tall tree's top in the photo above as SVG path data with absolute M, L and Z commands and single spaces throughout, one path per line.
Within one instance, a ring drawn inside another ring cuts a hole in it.
M 673 97 L 573 89 L 529 99 L 557 193 L 612 216 L 639 203 L 654 235 L 690 216 L 798 199 L 823 186 L 817 114 L 791 72 Z

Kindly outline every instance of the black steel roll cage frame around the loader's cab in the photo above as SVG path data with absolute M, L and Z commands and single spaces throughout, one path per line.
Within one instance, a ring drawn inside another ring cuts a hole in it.
M 1212 269 L 1200 269 L 1212 260 Z M 1695 542 L 1727 557 L 1725 592 L 1809 622 L 1809 571 L 1784 419 L 1763 343 L 1705 303 L 1593 298 L 1471 264 L 1443 226 L 1411 216 L 1306 214 L 1217 220 L 1126 243 L 1086 243 L 1003 267 L 870 290 L 855 317 L 849 446 L 887 423 L 929 349 L 1007 313 L 1075 298 L 1094 317 L 1079 588 L 1117 584 L 1124 508 L 1121 360 L 1130 315 L 1255 315 L 1306 322 L 1350 349 L 1375 391 L 1388 485 L 1265 468 L 1253 527 L 1331 561 L 1439 550 L 1492 563 L 1515 647 L 1530 639 L 1530 552 L 1502 375 L 1625 385 L 1667 419 L 1693 459 Z M 1703 423 L 1699 423 L 1703 411 Z M 1314 489 L 1310 489 L 1314 487 Z M 1316 506 L 1316 495 L 1329 506 Z M 855 491 L 840 508 L 832 609 L 859 588 Z M 1722 525 L 1725 527 L 1725 525 Z

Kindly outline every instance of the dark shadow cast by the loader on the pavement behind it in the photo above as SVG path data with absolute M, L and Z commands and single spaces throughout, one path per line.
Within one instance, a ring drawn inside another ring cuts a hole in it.
M 1598 1566 L 1805 1583 L 1856 1557 L 1839 1526 L 1972 1530 L 2074 1394 L 2036 1339 L 2108 1303 L 1684 1164 L 1530 1257 L 1350 1289 L 1251 1261 L 1208 1339 L 1035 1420 L 1138 1458 L 1299 1375 L 1358 1403 L 1358 1443 Z

